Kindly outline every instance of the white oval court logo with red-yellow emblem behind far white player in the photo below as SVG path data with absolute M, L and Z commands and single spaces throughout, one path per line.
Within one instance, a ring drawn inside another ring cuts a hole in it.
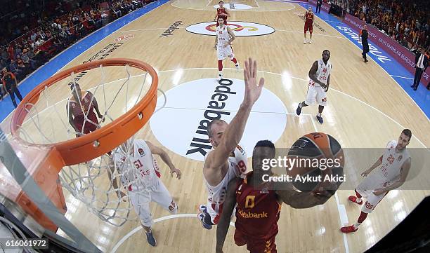
M 227 21 L 228 27 L 230 27 L 235 36 L 261 36 L 272 34 L 275 29 L 267 25 L 261 25 L 252 22 L 240 22 L 240 21 Z M 216 22 L 202 22 L 194 25 L 190 25 L 185 28 L 188 32 L 193 34 L 203 34 L 215 36 Z

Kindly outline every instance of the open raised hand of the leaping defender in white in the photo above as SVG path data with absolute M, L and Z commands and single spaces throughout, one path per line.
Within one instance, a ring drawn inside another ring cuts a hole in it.
M 257 65 L 256 61 L 249 58 L 245 61 L 245 69 L 243 71 L 243 78 L 245 80 L 245 97 L 243 102 L 254 104 L 261 95 L 261 90 L 264 86 L 264 78 L 260 78 L 259 84 L 256 81 Z

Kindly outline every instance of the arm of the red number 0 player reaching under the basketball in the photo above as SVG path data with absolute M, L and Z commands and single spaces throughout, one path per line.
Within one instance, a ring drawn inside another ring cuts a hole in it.
M 278 187 L 278 189 L 282 189 L 276 191 L 278 198 L 286 205 L 297 209 L 323 205 L 334 194 L 334 191 L 329 192 L 324 189 L 318 192 L 299 192 L 295 191 L 291 184 L 285 184 L 285 182 L 280 183 Z

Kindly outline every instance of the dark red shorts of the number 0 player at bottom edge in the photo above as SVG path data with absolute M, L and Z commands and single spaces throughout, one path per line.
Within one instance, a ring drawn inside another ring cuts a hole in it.
M 271 238 L 254 238 L 245 235 L 240 232 L 239 229 L 235 230 L 235 243 L 237 246 L 247 245 L 247 249 L 250 253 L 276 253 L 275 237 L 277 233 L 274 233 Z

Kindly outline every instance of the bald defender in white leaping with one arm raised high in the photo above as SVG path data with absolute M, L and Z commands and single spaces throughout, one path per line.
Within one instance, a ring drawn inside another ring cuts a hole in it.
M 256 62 L 249 58 L 245 62 L 243 76 L 245 79 L 245 96 L 237 114 L 230 124 L 219 118 L 207 125 L 209 142 L 214 147 L 204 159 L 203 176 L 207 185 L 207 202 L 209 206 L 200 205 L 198 218 L 202 226 L 211 229 L 216 224 L 222 211 L 223 198 L 226 195 L 228 182 L 239 177 L 247 170 L 247 157 L 239 144 L 249 117 L 249 113 L 261 95 L 264 79 L 260 78 L 257 85 Z

